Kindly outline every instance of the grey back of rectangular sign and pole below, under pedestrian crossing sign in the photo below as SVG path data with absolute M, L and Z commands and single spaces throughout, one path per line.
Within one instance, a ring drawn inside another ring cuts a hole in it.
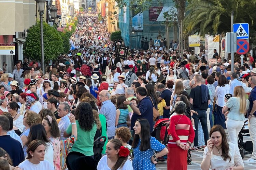
M 231 53 L 231 71 L 234 71 L 234 53 L 237 52 L 237 33 L 226 33 L 227 53 Z

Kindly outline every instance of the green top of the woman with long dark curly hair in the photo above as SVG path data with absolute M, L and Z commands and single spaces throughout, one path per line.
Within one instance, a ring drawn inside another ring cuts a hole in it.
M 93 129 L 90 131 L 84 131 L 80 128 L 78 120 L 76 122 L 77 127 L 77 140 L 75 141 L 73 147 L 71 148 L 70 152 L 76 151 L 84 154 L 85 156 L 92 156 L 94 155 L 93 152 L 93 142 L 94 136 L 97 131 L 97 125 L 93 125 Z M 72 125 L 70 124 L 66 130 L 68 134 L 72 133 Z

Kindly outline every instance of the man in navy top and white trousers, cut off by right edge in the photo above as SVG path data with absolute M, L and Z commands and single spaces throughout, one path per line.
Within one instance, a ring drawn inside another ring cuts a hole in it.
M 251 76 L 248 83 L 253 88 L 248 99 L 250 102 L 250 107 L 247 112 L 249 119 L 248 129 L 253 141 L 253 153 L 252 157 L 248 160 L 245 160 L 244 163 L 252 164 L 256 163 L 256 76 Z

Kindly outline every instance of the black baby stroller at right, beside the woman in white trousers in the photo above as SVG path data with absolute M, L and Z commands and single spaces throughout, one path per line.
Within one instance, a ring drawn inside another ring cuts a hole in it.
M 243 141 L 244 136 L 250 136 L 247 126 L 248 126 L 248 120 L 244 122 L 243 128 L 238 134 L 238 148 L 239 148 L 239 152 L 241 154 L 242 159 L 244 158 L 244 155 L 251 154 L 253 152 L 253 142 Z

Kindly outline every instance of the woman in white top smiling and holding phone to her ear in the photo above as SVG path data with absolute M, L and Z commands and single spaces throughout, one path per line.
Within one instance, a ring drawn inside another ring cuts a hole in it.
M 244 163 L 239 150 L 231 142 L 221 125 L 214 125 L 210 131 L 210 139 L 204 148 L 202 170 L 243 170 Z

